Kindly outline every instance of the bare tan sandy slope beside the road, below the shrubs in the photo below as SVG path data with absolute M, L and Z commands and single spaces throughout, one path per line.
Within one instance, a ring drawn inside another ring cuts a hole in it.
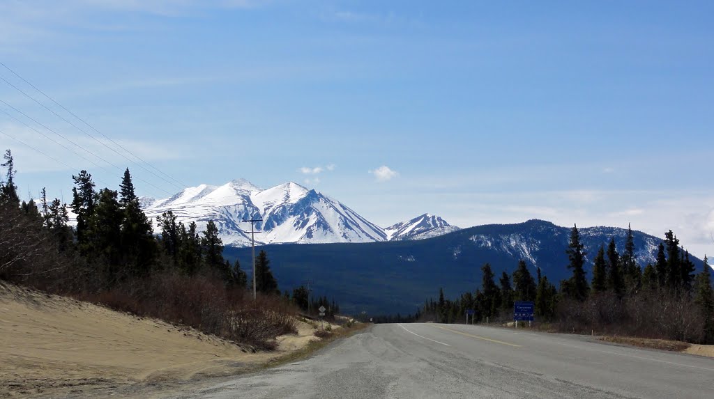
M 213 336 L 86 302 L 0 283 L 0 398 L 92 396 L 126 384 L 227 375 L 313 339 L 281 337 L 277 353 L 253 353 Z

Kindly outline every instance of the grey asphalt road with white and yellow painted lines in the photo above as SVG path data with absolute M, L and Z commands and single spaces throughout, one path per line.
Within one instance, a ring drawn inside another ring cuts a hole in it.
M 714 358 L 583 336 L 381 324 L 181 398 L 714 398 Z

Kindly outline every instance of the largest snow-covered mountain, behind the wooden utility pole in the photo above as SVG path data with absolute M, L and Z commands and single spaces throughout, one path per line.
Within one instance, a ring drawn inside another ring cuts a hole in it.
M 142 198 L 144 212 L 156 219 L 171 210 L 178 222 L 196 222 L 198 231 L 213 220 L 223 244 L 243 247 L 251 243 L 250 224 L 256 222 L 256 244 L 386 241 L 381 227 L 369 222 L 335 199 L 294 182 L 267 190 L 247 180 L 222 186 L 199 185 L 171 198 Z

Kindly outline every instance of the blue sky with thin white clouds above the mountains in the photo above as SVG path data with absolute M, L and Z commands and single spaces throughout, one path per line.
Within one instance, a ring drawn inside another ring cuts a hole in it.
M 710 1 L 4 0 L 0 61 L 186 185 L 292 180 L 385 227 L 424 212 L 461 227 L 631 222 L 702 257 L 713 14 Z M 3 81 L 0 100 L 128 166 L 141 194 L 179 190 Z M 79 168 L 118 185 L 115 167 L 2 112 L 0 130 L 62 162 L 0 135 L 25 197 L 69 201 Z

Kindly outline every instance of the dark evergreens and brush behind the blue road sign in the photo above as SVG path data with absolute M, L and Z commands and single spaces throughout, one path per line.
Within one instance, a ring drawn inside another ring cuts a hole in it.
M 533 301 L 535 318 L 562 331 L 624 333 L 645 338 L 669 338 L 697 343 L 714 342 L 714 292 L 708 259 L 695 274 L 695 264 L 670 230 L 658 245 L 654 264 L 644 269 L 635 256 L 632 229 L 628 228 L 623 252 L 615 239 L 600 245 L 588 281 L 588 255 L 580 242 L 578 227 L 570 231 L 568 249 L 570 278 L 559 287 L 536 269 L 535 278 L 526 261 L 518 261 L 513 274 L 493 274 L 490 264 L 481 267 L 481 287 L 457 299 L 428 299 L 415 319 L 441 323 L 465 321 L 467 309 L 476 311 L 475 321 L 513 320 L 514 301 Z M 498 279 L 498 284 L 496 283 Z

